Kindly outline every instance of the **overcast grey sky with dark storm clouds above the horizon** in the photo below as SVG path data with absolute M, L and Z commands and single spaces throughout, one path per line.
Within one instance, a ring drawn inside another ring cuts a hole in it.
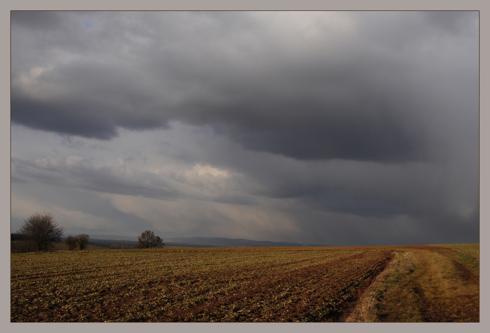
M 478 12 L 12 12 L 11 231 L 479 241 Z

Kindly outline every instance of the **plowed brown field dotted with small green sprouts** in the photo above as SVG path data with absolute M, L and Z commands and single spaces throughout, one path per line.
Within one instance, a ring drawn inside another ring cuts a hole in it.
M 11 321 L 336 321 L 391 257 L 316 247 L 12 254 Z

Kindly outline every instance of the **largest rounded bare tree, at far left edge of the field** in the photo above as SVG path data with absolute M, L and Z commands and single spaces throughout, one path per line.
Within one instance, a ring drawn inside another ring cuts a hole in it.
M 53 214 L 47 212 L 31 215 L 18 231 L 30 251 L 48 250 L 55 242 L 61 241 L 64 232 L 65 229 L 58 226 Z

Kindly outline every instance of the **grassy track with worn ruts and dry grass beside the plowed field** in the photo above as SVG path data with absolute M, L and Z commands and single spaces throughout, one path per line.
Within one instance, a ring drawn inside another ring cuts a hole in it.
M 349 322 L 478 322 L 479 261 L 451 250 L 395 254 Z

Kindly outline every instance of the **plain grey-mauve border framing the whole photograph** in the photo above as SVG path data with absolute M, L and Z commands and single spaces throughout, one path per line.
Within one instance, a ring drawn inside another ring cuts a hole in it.
M 183 0 L 183 1 L 158 1 L 158 0 L 85 0 L 83 3 L 66 2 L 63 0 L 4 0 L 0 5 L 0 33 L 1 41 L 5 46 L 1 50 L 1 101 L 3 107 L 0 112 L 0 147 L 2 155 L 5 156 L 0 162 L 0 170 L 4 177 L 0 178 L 0 211 L 3 214 L 2 231 L 10 229 L 10 164 L 6 156 L 10 153 L 10 10 L 480 10 L 480 59 L 489 58 L 489 27 L 490 27 L 490 5 L 484 0 L 412 0 L 410 2 L 394 2 L 390 0 L 345 0 L 332 1 L 322 0 L 248 0 L 248 1 L 226 1 L 226 0 Z M 490 202 L 489 180 L 487 172 L 489 167 L 489 65 L 485 61 L 480 62 L 480 240 L 484 240 L 489 234 L 489 208 L 485 205 Z M 7 232 L 2 233 L 4 237 Z M 480 242 L 480 281 L 489 279 L 489 254 L 490 246 L 486 242 Z M 1 263 L 10 265 L 10 250 L 7 249 L 8 242 L 1 244 Z M 416 323 L 10 323 L 10 275 L 9 269 L 5 267 L 0 275 L 0 322 L 4 325 L 6 332 L 34 331 L 33 325 L 37 325 L 35 331 L 56 332 L 70 330 L 71 332 L 105 332 L 108 329 L 116 332 L 134 332 L 141 330 L 141 325 L 152 325 L 152 330 L 178 331 L 178 332 L 246 332 L 251 330 L 258 332 L 409 332 L 413 330 L 422 332 L 440 331 L 458 332 L 462 330 L 472 332 L 487 332 L 490 320 L 486 314 L 490 313 L 488 302 L 489 285 L 480 283 L 480 323 L 461 324 L 416 324 Z M 482 297 L 482 295 L 484 297 Z M 483 314 L 483 315 L 482 315 Z M 70 325 L 70 327 L 68 327 Z M 108 326 L 110 325 L 110 327 Z M 437 327 L 436 327 L 437 325 Z M 443 325 L 443 326 L 442 326 Z M 148 329 L 148 326 L 146 326 Z M 5 332 L 5 331 L 4 331 Z

